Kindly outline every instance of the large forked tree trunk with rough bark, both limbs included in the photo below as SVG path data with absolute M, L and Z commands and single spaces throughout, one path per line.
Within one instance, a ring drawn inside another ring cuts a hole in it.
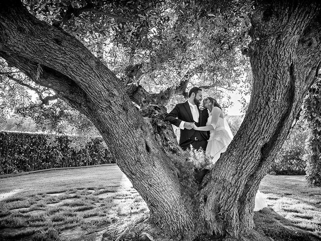
M 79 41 L 34 18 L 20 2 L 8 2 L 0 3 L 0 56 L 89 117 L 154 224 L 186 240 L 203 233 L 236 237 L 253 227 L 259 183 L 314 80 L 319 7 L 286 1 L 255 7 L 249 108 L 227 152 L 197 186 L 193 168 L 182 170 L 184 156 L 162 120 L 165 108 L 136 110 L 121 81 Z

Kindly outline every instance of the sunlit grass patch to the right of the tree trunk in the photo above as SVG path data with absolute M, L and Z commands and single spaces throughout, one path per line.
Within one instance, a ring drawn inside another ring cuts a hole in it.
M 321 188 L 309 187 L 304 176 L 267 175 L 260 190 L 274 211 L 321 236 Z

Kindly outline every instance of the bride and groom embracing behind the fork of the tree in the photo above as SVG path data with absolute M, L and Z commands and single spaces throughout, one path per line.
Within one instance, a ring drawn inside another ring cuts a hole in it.
M 165 121 L 181 129 L 179 145 L 183 150 L 187 150 L 191 146 L 196 150 L 202 148 L 205 155 L 209 156 L 214 164 L 226 151 L 233 135 L 216 99 L 206 97 L 203 107 L 200 106 L 202 100 L 202 89 L 193 87 L 189 91 L 189 99 L 184 103 L 177 104 L 165 116 Z M 255 197 L 254 211 L 261 210 L 266 206 L 263 195 L 258 191 Z

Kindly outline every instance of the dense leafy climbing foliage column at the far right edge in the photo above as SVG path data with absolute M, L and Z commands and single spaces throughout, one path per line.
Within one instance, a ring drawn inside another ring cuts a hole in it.
M 321 80 L 311 86 L 304 100 L 303 116 L 309 129 L 305 149 L 306 179 L 314 186 L 321 186 Z

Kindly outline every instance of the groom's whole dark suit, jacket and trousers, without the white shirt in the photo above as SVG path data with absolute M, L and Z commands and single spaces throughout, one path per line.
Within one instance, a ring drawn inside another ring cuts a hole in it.
M 199 111 L 199 121 L 196 123 L 193 119 L 192 111 L 188 101 L 177 104 L 174 109 L 165 116 L 165 121 L 170 122 L 174 126 L 180 127 L 182 121 L 193 122 L 197 127 L 204 127 L 207 122 L 209 114 L 207 109 Z M 180 147 L 183 150 L 187 150 L 190 145 L 196 150 L 201 147 L 206 150 L 207 140 L 209 139 L 208 132 L 195 131 L 194 129 L 181 129 L 180 135 Z

